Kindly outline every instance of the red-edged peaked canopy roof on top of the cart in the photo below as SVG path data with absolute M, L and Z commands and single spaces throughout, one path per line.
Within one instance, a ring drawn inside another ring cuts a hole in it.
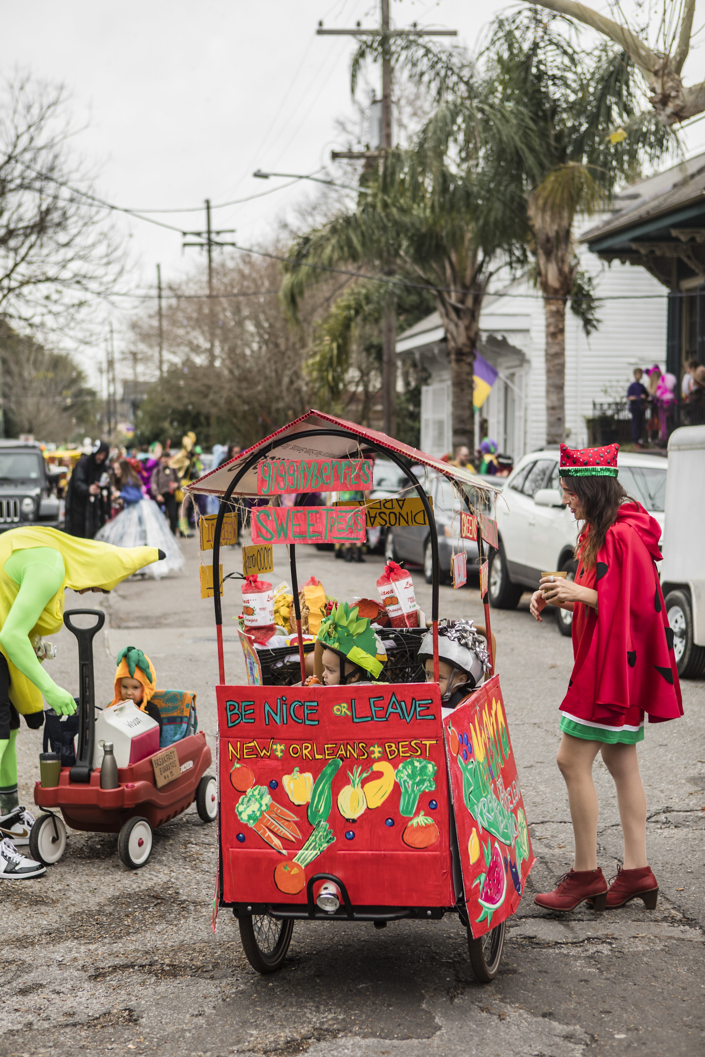
M 345 430 L 349 437 L 327 437 L 324 431 L 330 428 Z M 287 437 L 296 433 L 314 430 L 320 432 L 320 437 L 307 437 L 299 441 L 286 442 Z M 284 441 L 284 443 L 281 443 Z M 366 442 L 372 441 L 387 451 L 394 452 L 408 459 L 412 464 L 427 466 L 438 474 L 443 474 L 449 481 L 454 481 L 461 485 L 465 492 L 476 492 L 486 495 L 501 490 L 485 480 L 476 477 L 462 466 L 451 466 L 441 459 L 412 448 L 408 444 L 402 444 L 386 433 L 377 432 L 376 429 L 368 429 L 359 426 L 355 422 L 347 422 L 333 414 L 324 414 L 322 411 L 307 411 L 300 419 L 295 419 L 287 426 L 278 429 L 276 433 L 271 433 L 263 440 L 258 441 L 246 451 L 242 451 L 235 459 L 217 466 L 216 469 L 204 474 L 198 481 L 191 482 L 187 486 L 188 492 L 207 496 L 222 496 L 230 481 L 233 475 L 246 462 L 255 452 L 260 452 L 262 459 L 271 457 L 274 459 L 355 459 L 360 453 L 365 455 L 370 449 Z M 273 442 L 278 442 L 278 446 L 273 447 Z M 378 453 L 378 452 L 376 452 Z M 255 463 L 244 475 L 238 486 L 236 496 L 257 495 L 257 463 Z

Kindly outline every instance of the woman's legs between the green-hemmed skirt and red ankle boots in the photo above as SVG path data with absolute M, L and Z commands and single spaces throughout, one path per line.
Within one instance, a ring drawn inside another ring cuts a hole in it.
M 614 779 L 625 843 L 625 870 L 647 865 L 646 793 L 638 769 L 636 745 L 606 745 L 563 734 L 556 762 L 568 786 L 573 834 L 575 870 L 597 869 L 597 817 L 599 805 L 592 778 L 598 753 Z

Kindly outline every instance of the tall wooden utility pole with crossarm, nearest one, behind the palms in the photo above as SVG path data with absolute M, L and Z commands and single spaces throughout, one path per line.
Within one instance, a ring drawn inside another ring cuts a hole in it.
M 318 23 L 316 33 L 320 37 L 382 37 L 382 129 L 379 147 L 374 150 L 334 150 L 333 161 L 339 157 L 361 159 L 366 168 L 378 159 L 379 166 L 384 164 L 385 154 L 392 149 L 392 58 L 390 40 L 392 37 L 457 37 L 457 30 L 420 30 L 415 23 L 410 30 L 390 30 L 389 0 L 381 0 L 381 26 L 378 30 L 365 30 L 359 22 L 354 30 L 324 30 L 322 22 Z M 393 275 L 393 262 L 384 266 L 386 275 Z M 385 304 L 382 319 L 382 405 L 384 415 L 384 431 L 388 437 L 396 432 L 396 305 L 393 295 Z

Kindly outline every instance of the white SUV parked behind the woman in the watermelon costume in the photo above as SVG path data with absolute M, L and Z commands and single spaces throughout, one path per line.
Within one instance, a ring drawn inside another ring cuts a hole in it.
M 495 609 L 516 609 L 524 591 L 536 591 L 543 571 L 565 570 L 575 576 L 576 524 L 562 505 L 558 465 L 560 452 L 548 448 L 519 461 L 497 497 L 499 550 L 489 556 L 489 602 Z M 666 470 L 661 456 L 619 452 L 619 483 L 664 527 Z M 663 536 L 662 536 L 663 550 Z M 558 629 L 570 635 L 573 614 L 557 611 Z

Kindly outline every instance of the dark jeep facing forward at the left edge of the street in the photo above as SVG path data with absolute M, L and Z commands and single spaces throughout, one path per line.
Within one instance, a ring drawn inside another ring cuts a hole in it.
M 39 445 L 0 441 L 0 532 L 22 524 L 62 528 L 60 506 Z

